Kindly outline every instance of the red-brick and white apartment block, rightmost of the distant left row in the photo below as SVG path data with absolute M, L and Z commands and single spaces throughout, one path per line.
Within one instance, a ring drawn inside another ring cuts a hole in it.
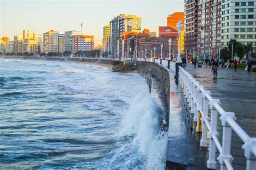
M 91 51 L 94 49 L 94 36 L 78 35 L 72 37 L 72 54 L 77 51 Z

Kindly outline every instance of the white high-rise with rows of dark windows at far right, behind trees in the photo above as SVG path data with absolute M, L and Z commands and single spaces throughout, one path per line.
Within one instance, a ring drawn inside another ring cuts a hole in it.
M 221 45 L 236 39 L 252 44 L 252 52 L 256 52 L 256 0 L 230 0 L 221 5 Z

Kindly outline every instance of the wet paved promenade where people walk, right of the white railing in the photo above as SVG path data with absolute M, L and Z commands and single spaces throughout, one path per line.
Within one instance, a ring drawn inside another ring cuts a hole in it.
M 235 113 L 237 123 L 250 137 L 256 137 L 256 72 L 220 69 L 217 79 L 213 79 L 211 66 L 194 69 L 192 64 L 187 64 L 185 69 L 211 91 L 212 97 L 220 99 L 225 111 Z M 221 132 L 221 126 L 218 131 Z M 219 138 L 222 138 L 221 133 Z M 231 154 L 234 169 L 245 169 L 246 159 L 241 146 L 242 141 L 233 132 Z

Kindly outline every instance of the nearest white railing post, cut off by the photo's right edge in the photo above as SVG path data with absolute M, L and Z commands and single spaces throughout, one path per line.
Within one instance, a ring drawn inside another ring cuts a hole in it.
M 256 167 L 256 138 L 247 139 L 245 144 L 242 145 L 242 149 L 245 151 L 246 170 L 254 170 Z

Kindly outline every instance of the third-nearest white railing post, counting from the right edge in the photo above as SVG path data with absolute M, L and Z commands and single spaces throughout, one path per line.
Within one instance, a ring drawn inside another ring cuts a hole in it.
M 212 99 L 210 101 L 210 108 L 212 110 L 211 113 L 211 129 L 209 132 L 210 136 L 210 153 L 209 153 L 209 159 L 207 161 L 207 168 L 208 169 L 216 169 L 216 144 L 213 140 L 213 135 L 218 135 L 217 132 L 217 119 L 218 119 L 218 112 L 213 106 L 214 103 L 219 103 L 219 99 Z

